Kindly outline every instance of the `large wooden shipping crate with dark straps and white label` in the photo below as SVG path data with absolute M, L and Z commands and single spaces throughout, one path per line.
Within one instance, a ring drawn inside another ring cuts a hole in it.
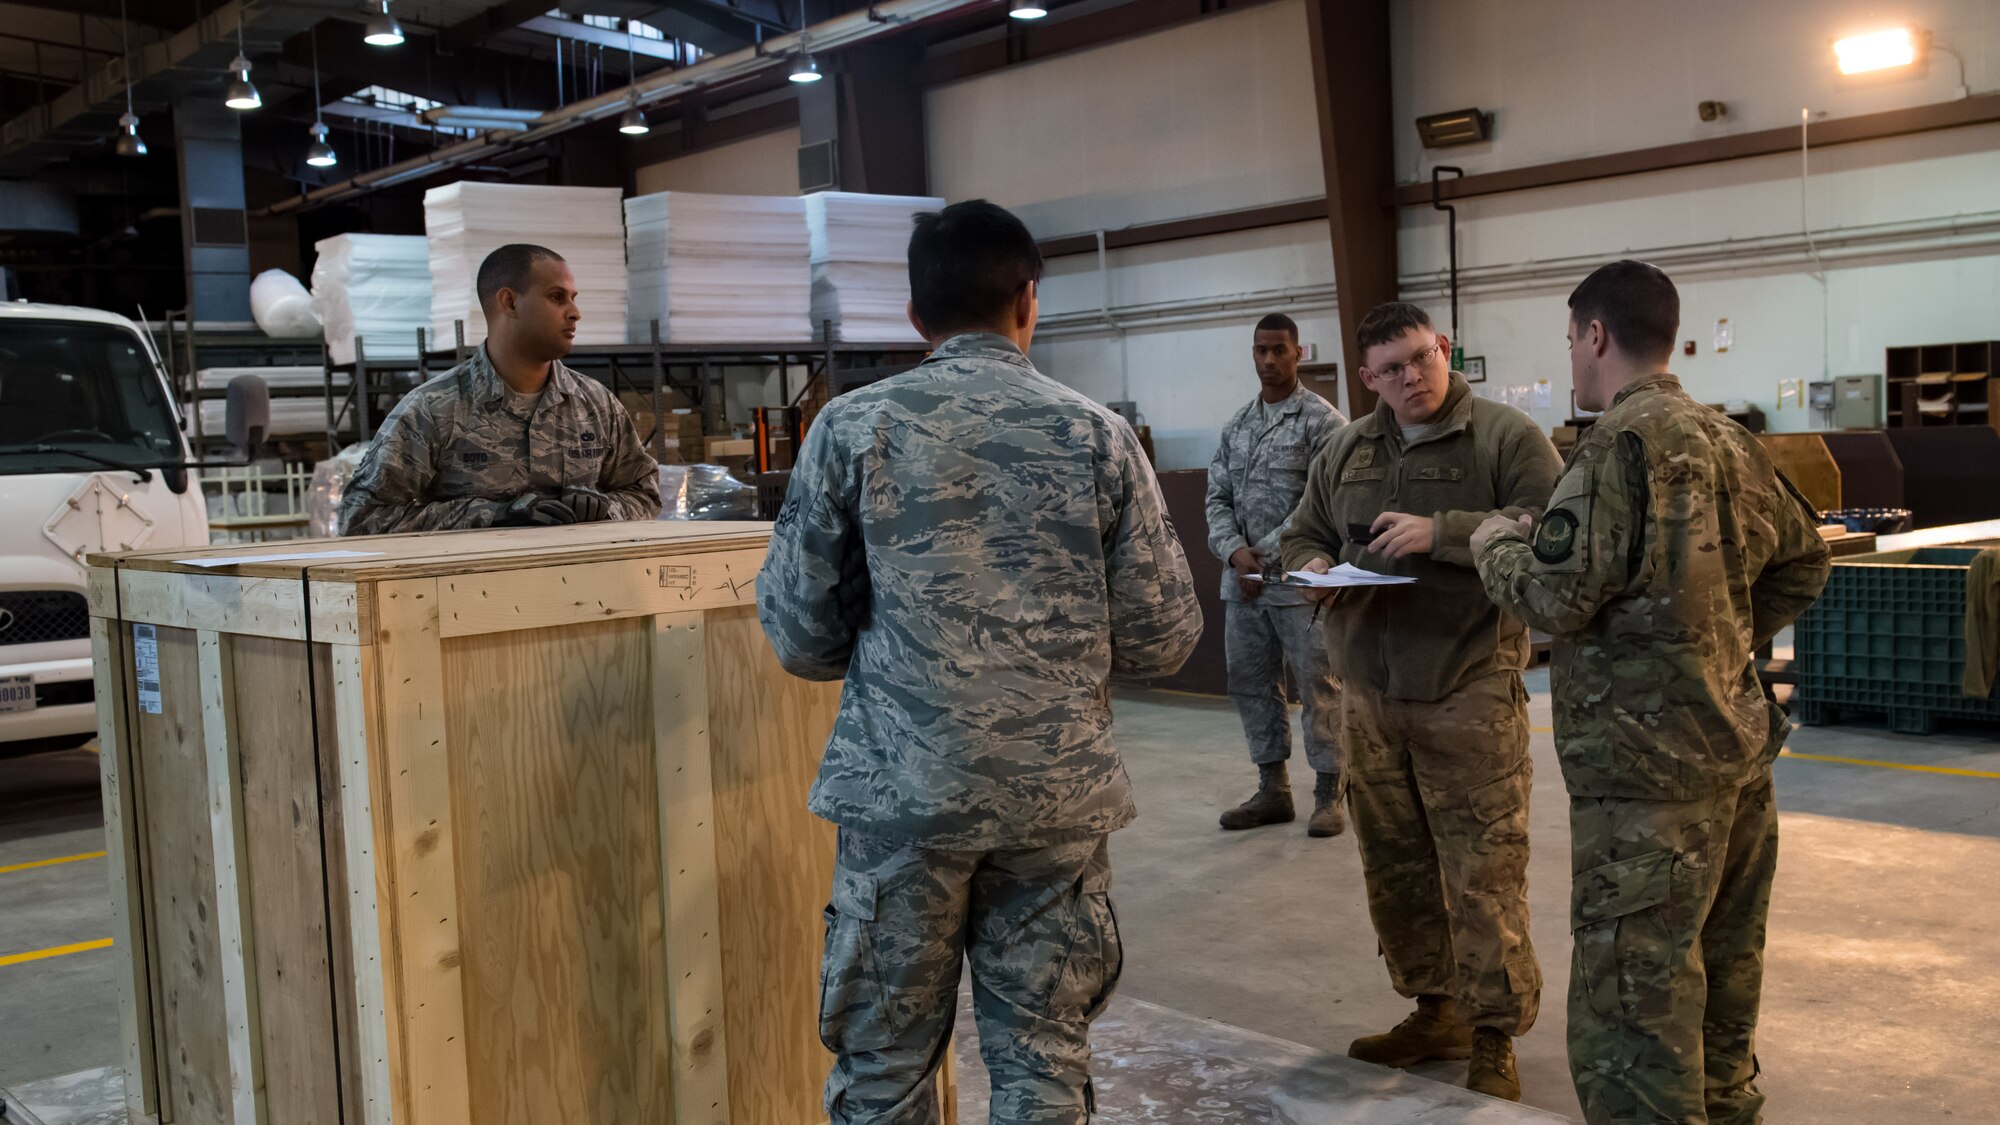
M 824 1121 L 768 526 L 92 558 L 130 1119 Z

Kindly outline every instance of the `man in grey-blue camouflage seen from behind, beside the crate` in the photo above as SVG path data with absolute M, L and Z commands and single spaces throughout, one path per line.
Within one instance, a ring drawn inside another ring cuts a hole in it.
M 834 1125 L 940 1119 L 962 963 L 996 1125 L 1080 1125 L 1090 1021 L 1124 965 L 1108 835 L 1132 815 L 1110 677 L 1202 629 L 1122 418 L 1028 362 L 1042 254 L 984 200 L 916 220 L 916 370 L 812 424 L 758 617 L 846 677 L 812 811 L 840 825 L 820 1037 Z

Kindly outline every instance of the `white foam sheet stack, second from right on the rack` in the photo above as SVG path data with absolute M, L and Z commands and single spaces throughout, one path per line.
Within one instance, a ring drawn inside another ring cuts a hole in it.
M 812 238 L 798 196 L 624 200 L 632 340 L 812 340 Z

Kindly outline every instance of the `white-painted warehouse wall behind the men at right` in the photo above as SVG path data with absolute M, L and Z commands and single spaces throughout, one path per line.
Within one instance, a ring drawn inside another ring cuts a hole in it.
M 1408 0 L 1394 6 L 1398 168 L 1466 172 L 1674 144 L 1948 100 L 1958 64 L 1840 78 L 1830 42 L 1908 20 L 1966 58 L 1972 92 L 2000 88 L 2000 4 L 1910 0 Z M 986 196 L 1036 234 L 1076 234 L 1322 194 L 1302 0 L 1276 0 L 1138 40 L 934 90 L 932 184 Z M 1730 116 L 1704 124 L 1714 98 Z M 1478 104 L 1494 138 L 1426 152 L 1418 114 Z M 2000 338 L 2000 126 L 1846 144 L 1460 204 L 1462 336 L 1488 388 L 1550 380 L 1544 424 L 1568 416 L 1564 298 L 1596 264 L 1662 262 L 1682 288 L 1676 368 L 1704 400 L 1758 402 L 1774 428 L 1780 378 L 1880 372 L 1882 348 Z M 1806 246 L 1810 220 L 1824 268 Z M 1448 320 L 1444 216 L 1404 208 L 1404 294 Z M 1098 398 L 1134 398 L 1162 466 L 1206 464 L 1222 420 L 1254 392 L 1250 326 L 1270 308 L 1338 358 L 1332 258 L 1320 224 L 1050 262 L 1036 362 Z M 1824 276 L 1824 286 L 1820 278 Z M 1100 304 L 1128 324 L 1120 334 Z M 1736 342 L 1712 350 L 1728 316 Z M 1328 386 L 1330 390 L 1330 386 Z

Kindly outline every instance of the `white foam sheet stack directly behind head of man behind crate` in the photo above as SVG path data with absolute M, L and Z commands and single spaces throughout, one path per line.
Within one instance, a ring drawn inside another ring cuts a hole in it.
M 532 242 L 562 254 L 576 274 L 578 344 L 626 342 L 624 210 L 618 188 L 548 188 L 540 184 L 446 184 L 424 192 L 430 238 L 430 324 L 438 346 L 452 346 L 452 322 L 466 322 L 466 344 L 486 340 L 486 318 L 472 292 L 480 262 L 508 242 Z

